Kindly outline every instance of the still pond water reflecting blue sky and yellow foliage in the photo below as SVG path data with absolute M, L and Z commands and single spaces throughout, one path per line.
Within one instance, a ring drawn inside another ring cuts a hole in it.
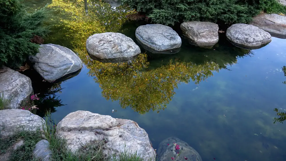
M 51 33 L 44 43 L 68 47 L 84 62 L 80 72 L 62 82 L 43 82 L 33 70 L 25 73 L 40 93 L 35 102 L 39 116 L 50 110 L 59 122 L 70 112 L 87 110 L 134 120 L 155 149 L 176 136 L 204 161 L 286 160 L 285 124 L 273 123 L 274 108 L 286 111 L 286 39 L 272 37 L 263 48 L 245 50 L 221 33 L 211 49 L 182 39 L 175 54 L 145 53 L 142 48 L 132 62 L 101 63 L 88 57 L 88 36 L 120 32 L 136 42 L 136 27 L 146 21 L 128 21 L 133 10 L 98 0 L 88 1 L 88 15 L 82 0 L 24 3 L 29 11 L 50 3 Z

